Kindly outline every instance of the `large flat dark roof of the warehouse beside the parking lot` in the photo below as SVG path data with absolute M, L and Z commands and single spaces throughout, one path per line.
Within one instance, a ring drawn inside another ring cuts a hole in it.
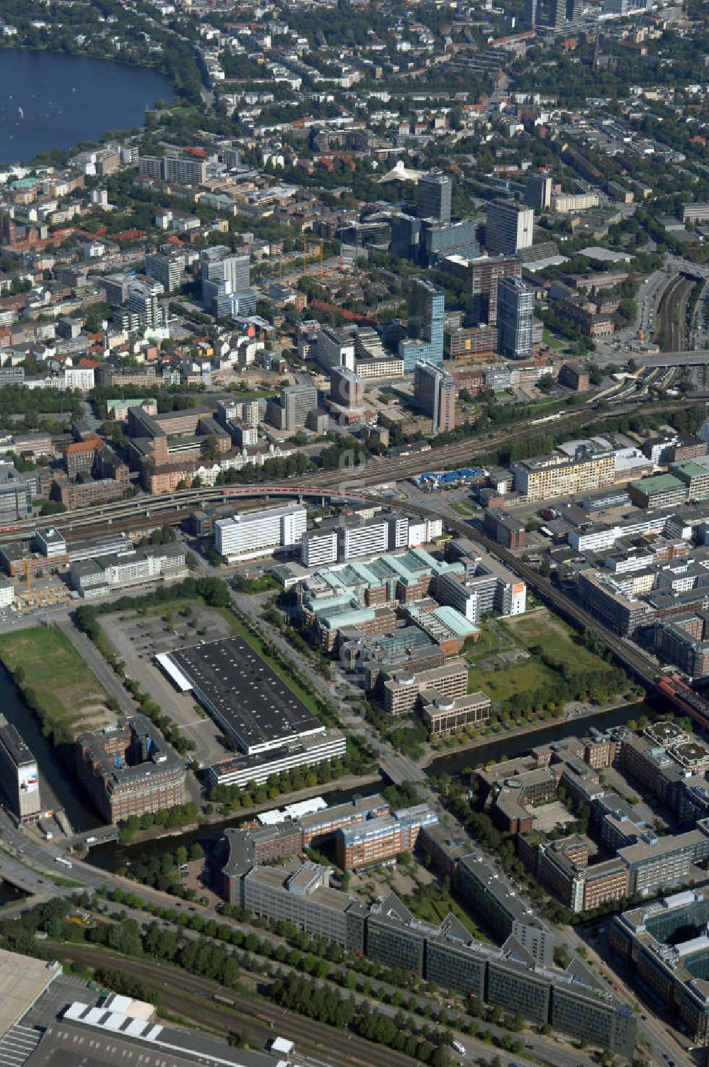
M 322 730 L 319 719 L 243 637 L 181 649 L 170 658 L 246 752 Z

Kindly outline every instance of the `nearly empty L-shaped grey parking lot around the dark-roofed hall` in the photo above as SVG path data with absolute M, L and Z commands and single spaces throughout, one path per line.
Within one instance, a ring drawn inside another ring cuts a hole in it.
M 114 652 L 126 664 L 126 673 L 174 720 L 180 733 L 194 742 L 192 757 L 199 766 L 224 759 L 228 749 L 219 727 L 199 708 L 192 694 L 175 689 L 156 665 L 155 656 L 228 637 L 227 621 L 199 604 L 166 604 L 145 614 L 103 616 L 101 625 Z

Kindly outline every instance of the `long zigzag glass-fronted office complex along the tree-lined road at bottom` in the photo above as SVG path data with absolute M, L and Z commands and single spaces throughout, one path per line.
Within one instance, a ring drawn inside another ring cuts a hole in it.
M 354 829 L 364 832 L 369 822 Z M 421 827 L 419 840 L 425 843 L 438 829 L 435 822 Z M 447 842 L 444 849 L 448 849 Z M 246 858 L 243 866 L 229 865 L 231 903 L 248 906 L 264 918 L 292 922 L 442 989 L 519 1012 L 558 1033 L 632 1057 L 633 1013 L 581 960 L 573 960 L 565 971 L 554 967 L 552 931 L 525 907 L 497 867 L 480 857 L 456 855 L 452 875 L 455 878 L 463 869 L 473 872 L 464 893 L 472 909 L 483 913 L 505 941 L 500 949 L 474 940 L 451 913 L 436 925 L 421 922 L 394 893 L 373 905 L 354 901 L 333 890 L 326 871 L 315 864 L 263 869 Z M 249 905 L 245 904 L 247 894 Z

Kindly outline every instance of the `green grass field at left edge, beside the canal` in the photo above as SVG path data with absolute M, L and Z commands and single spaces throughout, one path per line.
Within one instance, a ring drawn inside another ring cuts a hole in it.
M 0 659 L 31 692 L 45 726 L 71 737 L 107 721 L 107 694 L 59 626 L 33 626 L 0 637 Z

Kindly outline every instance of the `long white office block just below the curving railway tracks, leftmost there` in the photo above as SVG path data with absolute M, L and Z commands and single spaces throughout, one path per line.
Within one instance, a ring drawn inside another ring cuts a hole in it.
M 300 544 L 307 512 L 300 504 L 267 508 L 219 519 L 214 523 L 214 547 L 229 560 L 270 556 L 276 548 Z

